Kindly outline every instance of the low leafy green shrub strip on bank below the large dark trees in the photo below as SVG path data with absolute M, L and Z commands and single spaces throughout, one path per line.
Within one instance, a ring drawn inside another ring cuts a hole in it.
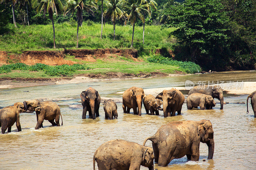
M 198 64 L 195 64 L 192 62 L 181 62 L 177 60 L 172 60 L 162 55 L 151 55 L 149 58 L 147 58 L 147 60 L 148 62 L 151 62 L 151 63 L 161 63 L 161 64 L 179 66 L 186 73 L 193 74 L 201 71 L 201 68 Z

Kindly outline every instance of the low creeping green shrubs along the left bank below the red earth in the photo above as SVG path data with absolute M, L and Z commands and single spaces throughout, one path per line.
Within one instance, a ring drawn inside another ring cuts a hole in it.
M 74 73 L 76 70 L 88 70 L 86 65 L 73 64 L 73 65 L 57 65 L 49 66 L 42 63 L 36 63 L 35 65 L 26 65 L 24 63 L 14 63 L 9 65 L 2 65 L 0 67 L 0 74 L 8 73 L 12 70 L 28 70 L 28 71 L 44 71 L 49 76 L 67 76 Z

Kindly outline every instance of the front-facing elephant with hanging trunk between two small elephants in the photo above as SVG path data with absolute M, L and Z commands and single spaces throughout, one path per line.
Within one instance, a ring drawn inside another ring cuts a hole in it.
M 130 113 L 130 109 L 133 109 L 134 115 L 141 116 L 142 101 L 145 97 L 144 91 L 140 87 L 131 87 L 125 90 L 123 94 L 123 110 L 124 113 Z M 127 107 L 127 110 L 126 110 Z M 138 112 L 137 112 L 138 107 Z

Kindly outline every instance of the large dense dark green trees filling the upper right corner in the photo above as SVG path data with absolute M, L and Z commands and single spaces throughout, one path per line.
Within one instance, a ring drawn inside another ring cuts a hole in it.
M 187 0 L 170 6 L 162 28 L 183 47 L 181 60 L 215 70 L 253 69 L 256 59 L 256 1 Z

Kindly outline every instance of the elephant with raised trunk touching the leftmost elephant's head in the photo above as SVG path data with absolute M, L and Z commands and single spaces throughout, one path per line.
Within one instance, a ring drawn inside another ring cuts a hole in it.
M 36 127 L 39 129 L 43 127 L 44 120 L 48 120 L 52 123 L 52 126 L 60 126 L 60 116 L 61 116 L 61 126 L 63 125 L 62 115 L 60 114 L 60 107 L 53 101 L 38 101 L 38 100 L 28 100 L 24 101 L 25 111 L 36 111 Z M 55 122 L 54 122 L 55 119 Z

